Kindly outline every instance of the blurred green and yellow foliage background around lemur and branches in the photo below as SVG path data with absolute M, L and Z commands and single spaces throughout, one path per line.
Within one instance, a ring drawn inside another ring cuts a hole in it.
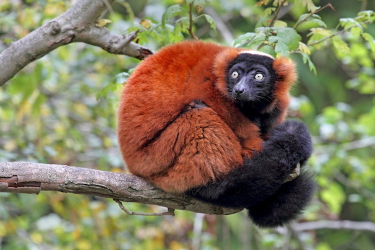
M 2 0 L 0 51 L 70 5 L 70 1 Z M 113 32 L 141 30 L 137 42 L 154 50 L 196 36 L 290 55 L 298 63 L 299 84 L 293 89 L 289 114 L 307 123 L 313 135 L 315 151 L 309 167 L 319 184 L 302 221 L 374 223 L 375 15 L 371 9 L 375 2 L 366 0 L 330 4 L 324 0 L 118 0 L 103 17 L 111 21 L 106 25 Z M 29 64 L 0 88 L 0 161 L 122 171 L 116 107 L 122 83 L 138 62 L 74 43 Z M 244 213 L 128 216 L 110 200 L 52 192 L 0 193 L 0 202 L 4 250 L 375 247 L 374 230 L 364 227 L 259 230 Z M 126 208 L 158 210 L 139 204 Z

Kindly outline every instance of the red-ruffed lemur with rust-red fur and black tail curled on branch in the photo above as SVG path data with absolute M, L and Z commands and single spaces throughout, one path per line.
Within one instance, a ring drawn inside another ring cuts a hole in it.
M 283 121 L 294 63 L 233 47 L 185 41 L 142 61 L 118 110 L 129 171 L 167 192 L 248 209 L 260 227 L 295 219 L 312 197 L 312 151 L 301 122 Z

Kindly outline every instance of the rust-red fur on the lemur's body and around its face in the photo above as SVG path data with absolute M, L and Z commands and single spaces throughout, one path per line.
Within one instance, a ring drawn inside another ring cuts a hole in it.
M 131 173 L 165 191 L 183 192 L 223 178 L 242 166 L 243 157 L 261 150 L 258 127 L 235 107 L 225 89 L 226 66 L 241 50 L 185 41 L 139 64 L 118 110 L 119 146 Z M 283 58 L 274 60 L 280 75 L 277 105 L 285 112 L 293 68 Z

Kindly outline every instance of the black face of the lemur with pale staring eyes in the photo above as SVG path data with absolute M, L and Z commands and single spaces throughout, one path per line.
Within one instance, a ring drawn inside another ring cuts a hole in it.
M 273 59 L 240 53 L 227 68 L 227 90 L 240 106 L 261 110 L 273 100 L 276 74 Z

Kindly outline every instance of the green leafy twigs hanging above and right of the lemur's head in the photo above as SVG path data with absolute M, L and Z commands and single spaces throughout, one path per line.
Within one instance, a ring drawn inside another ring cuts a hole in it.
M 277 4 L 276 8 L 266 8 L 264 10 L 264 14 L 267 13 L 267 15 L 270 15 L 270 9 L 274 11 L 269 23 L 266 26 L 256 27 L 253 32 L 248 32 L 238 36 L 234 41 L 234 45 L 259 50 L 273 56 L 289 56 L 291 53 L 299 53 L 302 56 L 303 62 L 308 63 L 310 70 L 315 74 L 316 69 L 309 56 L 310 50 L 316 48 L 316 46 L 322 42 L 330 40 L 332 37 L 345 32 L 350 31 L 356 36 L 362 35 L 362 37 L 369 43 L 370 49 L 375 52 L 375 39 L 373 39 L 370 34 L 363 32 L 366 24 L 375 21 L 375 14 L 373 11 L 360 11 L 354 18 L 340 19 L 340 23 L 332 33 L 332 31 L 326 29 L 325 22 L 321 20 L 319 15 L 317 15 L 319 11 L 322 11 L 325 8 L 334 10 L 332 4 L 328 3 L 322 7 L 317 7 L 312 1 L 303 1 L 302 4 L 307 5 L 309 12 L 300 15 L 293 27 L 287 27 L 286 22 L 275 22 L 280 9 L 287 2 L 287 0 L 274 1 L 273 4 Z M 265 5 L 267 3 L 268 0 L 261 0 L 257 5 Z M 303 23 L 308 23 L 306 27 L 310 27 L 310 33 L 307 34 L 307 36 L 309 36 L 307 43 L 301 41 L 302 37 L 297 32 L 297 28 L 301 29 Z M 343 29 L 336 31 L 340 25 L 343 26 Z M 354 30 L 355 28 L 357 29 Z M 342 39 L 334 38 L 332 45 L 336 51 L 349 50 L 349 47 Z

